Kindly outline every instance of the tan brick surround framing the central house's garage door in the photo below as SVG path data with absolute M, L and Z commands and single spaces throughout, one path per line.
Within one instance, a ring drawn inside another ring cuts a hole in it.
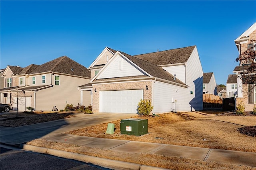
M 146 85 L 148 86 L 148 90 L 146 89 Z M 152 100 L 152 80 L 94 84 L 92 85 L 92 89 L 96 89 L 96 92 L 94 90 L 92 91 L 92 111 L 94 113 L 100 110 L 100 91 L 143 89 L 143 99 Z

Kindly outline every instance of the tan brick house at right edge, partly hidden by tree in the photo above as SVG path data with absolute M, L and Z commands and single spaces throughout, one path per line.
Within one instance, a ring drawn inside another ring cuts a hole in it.
M 256 39 L 256 23 L 250 26 L 248 30 L 235 40 L 239 55 L 246 51 L 250 45 L 253 45 L 250 44 L 250 40 L 252 39 Z M 248 61 L 239 62 L 239 66 L 234 68 L 233 73 L 236 73 L 238 77 L 239 73 L 246 70 L 248 65 L 250 65 L 250 62 Z M 252 111 L 254 103 L 256 102 L 256 91 L 254 89 L 254 84 L 243 84 L 242 79 L 238 77 L 236 104 L 239 102 L 243 102 L 245 104 L 245 111 Z

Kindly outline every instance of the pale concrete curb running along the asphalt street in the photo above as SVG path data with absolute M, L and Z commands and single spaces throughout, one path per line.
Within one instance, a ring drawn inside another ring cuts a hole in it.
M 63 150 L 56 150 L 56 149 L 50 149 L 50 148 L 44 148 L 40 146 L 32 146 L 28 144 L 20 144 L 20 148 L 24 150 L 30 150 L 34 152 L 39 152 L 43 154 L 50 154 L 62 158 L 68 158 L 68 159 L 74 159 L 86 163 L 92 163 L 99 166 L 103 166 L 104 168 L 112 167 L 116 170 L 125 169 L 125 170 L 166 170 L 163 168 L 157 168 L 153 166 L 146 166 L 146 165 L 140 165 L 140 164 L 134 164 L 130 162 L 123 162 L 118 160 L 110 160 L 106 158 L 98 158 L 94 156 L 88 156 L 73 152 L 66 152 Z

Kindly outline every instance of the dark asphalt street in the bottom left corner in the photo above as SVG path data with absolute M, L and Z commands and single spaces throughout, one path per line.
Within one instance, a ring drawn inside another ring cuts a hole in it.
M 1 145 L 1 170 L 110 170 L 77 160 Z

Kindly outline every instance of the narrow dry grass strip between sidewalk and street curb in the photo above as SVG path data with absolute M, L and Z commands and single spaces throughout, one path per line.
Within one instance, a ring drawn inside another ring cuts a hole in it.
M 256 168 L 252 168 L 250 166 L 178 158 L 174 156 L 162 156 L 149 153 L 130 154 L 40 139 L 32 140 L 27 144 L 172 170 L 256 170 Z

